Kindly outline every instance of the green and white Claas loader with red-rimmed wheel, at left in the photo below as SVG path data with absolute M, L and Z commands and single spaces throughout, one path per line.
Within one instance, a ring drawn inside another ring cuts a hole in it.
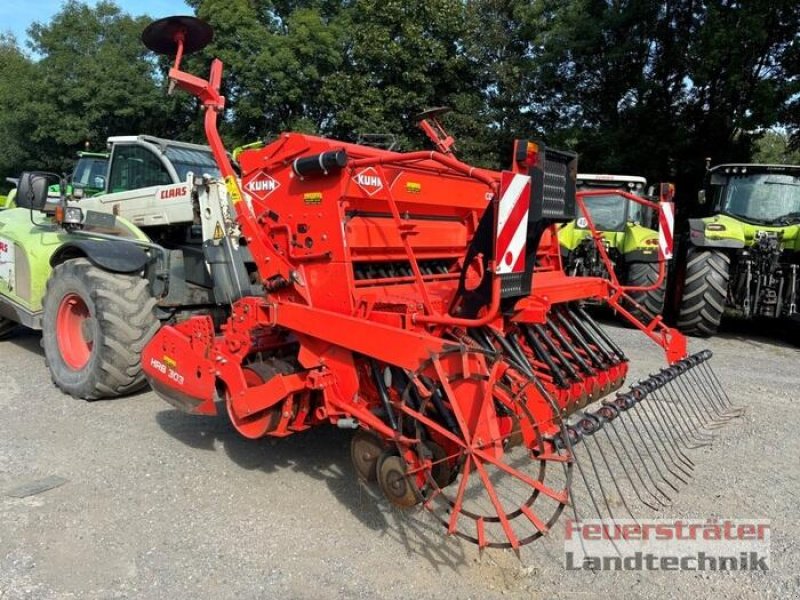
M 160 322 L 224 318 L 257 285 L 206 146 L 124 136 L 109 148 L 103 174 L 72 186 L 23 173 L 16 208 L 0 211 L 0 337 L 41 330 L 54 383 L 85 399 L 145 385 L 140 353 Z

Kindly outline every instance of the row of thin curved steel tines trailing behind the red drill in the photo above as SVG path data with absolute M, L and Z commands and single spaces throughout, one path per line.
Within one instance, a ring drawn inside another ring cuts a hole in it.
M 566 420 L 564 431 L 553 439 L 569 450 L 579 474 L 571 488 L 576 519 L 584 516 L 580 505 L 588 504 L 612 525 L 620 509 L 635 520 L 635 503 L 626 493 L 655 511 L 672 504 L 674 493 L 692 477 L 690 451 L 710 443 L 704 430 L 741 413 L 724 391 L 712 387 L 718 380 L 709 375 L 710 358 L 708 350 L 691 355 Z M 709 392 L 691 393 L 701 385 Z M 681 391 L 686 393 L 678 395 Z M 602 481 L 601 471 L 610 483 Z

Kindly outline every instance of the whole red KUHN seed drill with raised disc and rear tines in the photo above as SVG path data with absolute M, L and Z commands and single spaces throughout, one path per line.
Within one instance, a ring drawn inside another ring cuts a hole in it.
M 614 460 L 602 456 L 615 489 L 627 480 L 643 504 L 666 505 L 664 488 L 691 472 L 685 451 L 736 413 L 710 352 L 688 356 L 660 317 L 637 321 L 618 282 L 564 274 L 555 225 L 576 216 L 575 155 L 518 140 L 508 171 L 475 168 L 427 113 L 435 151 L 286 133 L 242 152 L 237 173 L 217 131 L 222 63 L 208 80 L 181 70 L 211 37 L 190 17 L 143 34 L 175 56 L 171 82 L 200 99 L 224 177 L 203 193 L 230 208 L 208 242 L 230 257 L 214 273 L 232 282 L 227 318 L 162 327 L 142 359 L 153 389 L 190 413 L 224 404 L 248 438 L 353 429 L 361 478 L 480 547 L 516 549 L 577 510 L 574 468 L 611 511 L 601 479 L 589 482 L 597 460 L 577 454 L 601 430 L 619 438 Z M 668 366 L 610 396 L 628 359 L 583 310 L 589 299 L 658 343 Z

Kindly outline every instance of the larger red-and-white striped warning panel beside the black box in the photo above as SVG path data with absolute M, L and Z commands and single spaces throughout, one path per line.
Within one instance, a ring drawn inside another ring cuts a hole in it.
M 497 205 L 497 239 L 495 257 L 500 274 L 525 270 L 525 248 L 528 241 L 528 210 L 531 203 L 531 178 L 503 171 L 500 180 L 500 201 Z

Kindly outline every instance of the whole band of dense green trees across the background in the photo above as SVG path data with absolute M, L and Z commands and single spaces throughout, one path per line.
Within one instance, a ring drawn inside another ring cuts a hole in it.
M 300 130 L 428 144 L 414 115 L 450 106 L 459 155 L 500 167 L 515 137 L 577 150 L 583 170 L 677 180 L 704 159 L 800 145 L 796 0 L 190 0 L 225 62 L 229 145 Z M 68 0 L 0 37 L 0 174 L 62 169 L 86 142 L 150 133 L 202 140 L 199 107 L 164 93 L 149 22 L 108 0 Z M 794 136 L 794 137 L 792 137 Z M 768 152 L 769 151 L 769 152 Z M 791 154 L 784 152 L 786 156 Z

